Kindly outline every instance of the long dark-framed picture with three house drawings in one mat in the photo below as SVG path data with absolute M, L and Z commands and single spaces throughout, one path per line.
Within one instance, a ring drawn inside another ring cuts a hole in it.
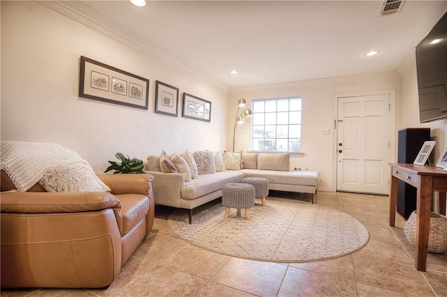
M 149 79 L 81 56 L 79 96 L 148 109 Z

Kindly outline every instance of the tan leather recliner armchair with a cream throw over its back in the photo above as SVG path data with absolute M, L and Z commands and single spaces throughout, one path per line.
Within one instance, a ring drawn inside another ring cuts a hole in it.
M 154 223 L 153 176 L 98 174 L 111 192 L 14 192 L 1 171 L 1 287 L 100 288 Z M 9 191 L 9 192 L 3 192 Z

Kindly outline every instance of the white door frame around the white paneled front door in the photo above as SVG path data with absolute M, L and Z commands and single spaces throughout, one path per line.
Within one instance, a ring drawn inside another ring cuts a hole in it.
M 388 151 L 388 161 L 395 162 L 397 158 L 397 151 L 395 149 L 396 142 L 396 90 L 395 89 L 384 89 L 377 91 L 354 91 L 346 93 L 335 93 L 332 100 L 332 112 L 333 121 L 332 128 L 334 132 L 332 133 L 332 185 L 333 192 L 337 192 L 337 128 L 338 128 L 338 101 L 339 98 L 346 97 L 360 97 L 360 96 L 374 96 L 374 95 L 388 95 L 390 96 L 390 125 L 389 125 L 389 137 L 390 137 L 390 149 Z M 390 180 L 388 179 L 388 184 Z M 389 194 L 389 193 L 388 193 Z

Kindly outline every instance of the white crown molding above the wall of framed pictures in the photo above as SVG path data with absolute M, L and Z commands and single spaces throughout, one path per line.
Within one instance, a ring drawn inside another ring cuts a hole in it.
M 97 31 L 108 38 L 112 38 L 123 45 L 131 47 L 152 59 L 159 61 L 170 68 L 189 75 L 200 81 L 210 83 L 226 91 L 230 86 L 208 75 L 202 70 L 190 66 L 180 61 L 161 47 L 150 43 L 145 38 L 138 36 L 133 31 L 124 28 L 117 22 L 110 20 L 98 11 L 82 3 L 82 1 L 37 1 L 38 3 L 50 8 L 61 15 L 64 15 L 75 22 L 83 24 L 94 31 Z

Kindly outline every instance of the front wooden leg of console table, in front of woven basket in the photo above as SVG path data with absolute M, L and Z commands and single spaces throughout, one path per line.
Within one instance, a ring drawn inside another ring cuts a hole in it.
M 416 269 L 425 271 L 432 211 L 433 178 L 420 176 L 416 205 Z

